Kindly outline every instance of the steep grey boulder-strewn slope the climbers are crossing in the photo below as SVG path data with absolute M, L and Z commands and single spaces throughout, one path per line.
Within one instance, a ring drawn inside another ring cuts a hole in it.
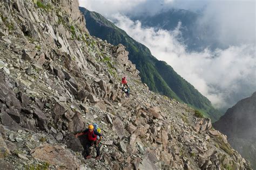
M 123 45 L 90 36 L 78 1 L 0 1 L 0 15 L 1 168 L 250 169 L 209 119 L 149 91 Z M 74 137 L 91 123 L 100 160 Z

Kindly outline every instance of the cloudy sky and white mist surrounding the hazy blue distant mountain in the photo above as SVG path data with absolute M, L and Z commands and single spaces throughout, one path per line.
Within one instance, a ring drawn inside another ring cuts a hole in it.
M 153 56 L 165 60 L 217 107 L 231 107 L 256 91 L 255 1 L 86 0 L 80 6 L 114 21 L 128 35 L 146 45 Z M 198 30 L 211 28 L 214 39 L 226 49 L 187 52 L 176 30 L 144 28 L 127 16 L 153 15 L 181 8 L 202 13 Z

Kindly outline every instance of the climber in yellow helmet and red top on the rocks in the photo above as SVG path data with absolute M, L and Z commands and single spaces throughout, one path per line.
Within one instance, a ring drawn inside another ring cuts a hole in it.
M 87 142 L 85 144 L 85 159 L 89 159 L 92 156 L 90 155 L 90 147 L 92 145 L 95 145 L 95 149 L 97 152 L 97 156 L 95 159 L 99 159 L 100 158 L 100 151 L 99 151 L 99 141 L 102 139 L 102 134 L 100 134 L 99 132 L 97 132 L 97 130 L 93 127 L 93 125 L 89 125 L 88 128 L 86 130 L 84 130 L 81 133 L 77 133 L 75 135 L 75 137 L 79 137 L 80 135 L 87 135 Z M 97 136 L 99 137 L 99 140 L 97 140 Z

